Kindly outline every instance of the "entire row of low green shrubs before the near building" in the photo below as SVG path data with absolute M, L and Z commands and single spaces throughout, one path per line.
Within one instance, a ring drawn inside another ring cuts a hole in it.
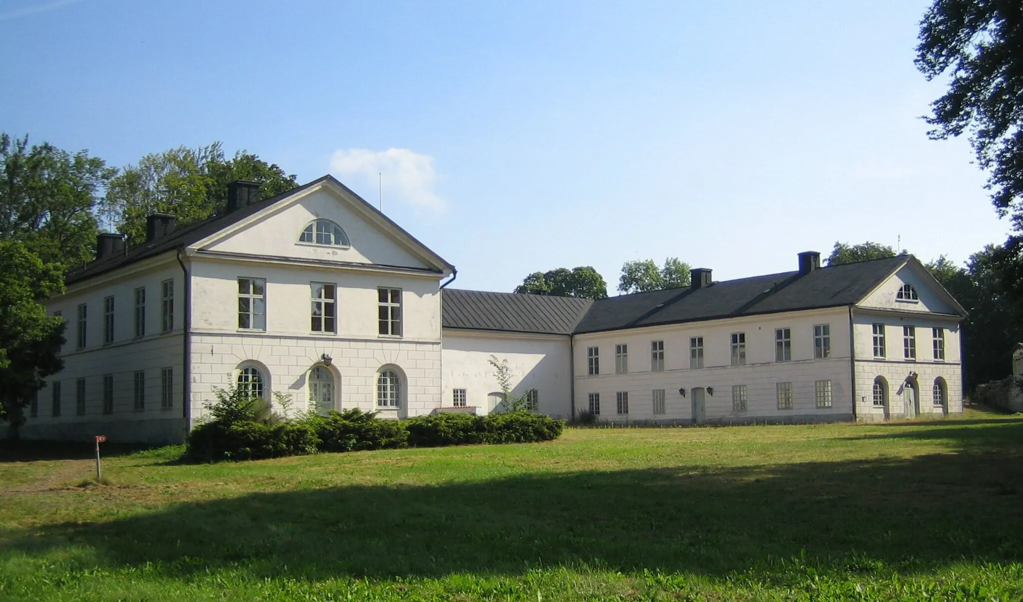
M 488 416 L 431 414 L 399 421 L 383 420 L 376 418 L 375 412 L 352 409 L 276 424 L 254 420 L 207 422 L 189 433 L 185 457 L 211 462 L 316 452 L 535 443 L 557 438 L 564 427 L 564 420 L 530 412 Z

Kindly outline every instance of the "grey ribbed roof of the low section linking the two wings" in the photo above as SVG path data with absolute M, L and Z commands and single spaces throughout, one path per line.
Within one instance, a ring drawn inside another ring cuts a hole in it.
M 571 334 L 592 299 L 445 288 L 445 328 Z

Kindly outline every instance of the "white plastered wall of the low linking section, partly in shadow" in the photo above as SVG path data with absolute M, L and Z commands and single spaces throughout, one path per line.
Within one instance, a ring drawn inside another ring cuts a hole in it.
M 568 335 L 501 333 L 445 329 L 443 406 L 455 388 L 465 389 L 468 406 L 478 414 L 493 411 L 491 393 L 500 392 L 491 356 L 507 360 L 513 395 L 537 389 L 538 411 L 555 418 L 572 416 L 571 342 Z

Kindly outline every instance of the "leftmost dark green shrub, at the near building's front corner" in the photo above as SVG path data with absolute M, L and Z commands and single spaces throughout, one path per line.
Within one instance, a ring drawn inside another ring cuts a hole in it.
M 308 424 L 263 424 L 242 420 L 227 424 L 199 424 L 188 434 L 185 457 L 189 460 L 260 460 L 315 454 L 316 432 Z

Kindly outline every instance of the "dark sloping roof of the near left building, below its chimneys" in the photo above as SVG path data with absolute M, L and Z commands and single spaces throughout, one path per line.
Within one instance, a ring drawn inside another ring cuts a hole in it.
M 297 188 L 293 188 L 292 190 L 288 190 L 287 192 L 283 192 L 283 193 L 278 194 L 276 196 L 271 196 L 270 198 L 265 198 L 263 200 L 258 201 L 258 202 L 254 202 L 252 204 L 249 204 L 249 205 L 246 205 L 246 206 L 242 206 L 242 207 L 238 207 L 237 210 L 235 210 L 233 212 L 230 212 L 228 214 L 224 214 L 224 215 L 220 215 L 220 216 L 214 216 L 214 217 L 208 218 L 206 220 L 203 220 L 202 222 L 195 222 L 194 224 L 188 224 L 187 226 L 182 226 L 180 228 L 176 228 L 173 232 L 171 232 L 167 236 L 162 236 L 162 237 L 158 238 L 157 240 L 153 240 L 152 242 L 141 242 L 139 244 L 131 246 L 130 248 L 128 248 L 125 251 L 124 254 L 113 256 L 113 257 L 109 257 L 109 258 L 104 258 L 102 260 L 97 260 L 97 261 L 91 262 L 91 263 L 89 263 L 89 264 L 87 264 L 87 265 L 85 265 L 85 266 L 83 266 L 81 268 L 78 268 L 76 270 L 72 270 L 71 272 L 69 272 L 64 276 L 64 283 L 65 284 L 74 284 L 76 282 L 81 282 L 83 280 L 88 280 L 89 278 L 92 278 L 93 276 L 98 276 L 100 274 L 104 274 L 104 273 L 109 272 L 112 270 L 117 270 L 118 268 L 122 268 L 122 267 L 125 267 L 125 266 L 128 266 L 128 265 L 131 265 L 131 264 L 134 264 L 135 262 L 139 262 L 139 261 L 147 259 L 147 258 L 155 257 L 158 254 L 167 252 L 169 250 L 174 250 L 174 249 L 177 249 L 177 248 L 188 246 L 189 244 L 193 244 L 195 242 L 198 242 L 199 240 L 203 240 L 207 236 L 212 236 L 213 234 L 216 234 L 217 232 L 223 230 L 224 228 L 227 228 L 228 226 L 230 226 L 232 224 L 235 224 L 237 222 L 240 222 L 241 220 L 244 220 L 246 218 L 248 218 L 249 216 L 252 216 L 253 214 L 255 214 L 257 212 L 263 211 L 267 206 L 269 206 L 269 205 L 271 205 L 271 204 L 273 204 L 273 203 L 275 203 L 275 202 L 277 202 L 279 200 L 283 200 L 283 199 L 285 199 L 285 198 L 287 198 L 287 197 L 290 197 L 290 196 L 292 196 L 292 195 L 294 195 L 294 194 L 296 194 L 298 192 L 301 192 L 301 191 L 305 190 L 306 188 L 310 188 L 310 187 L 315 186 L 316 184 L 319 184 L 319 183 L 321 183 L 323 181 L 326 181 L 326 180 L 332 181 L 335 184 L 341 186 L 342 188 L 344 188 L 345 190 L 347 190 L 348 192 L 350 192 L 352 194 L 352 196 L 354 196 L 355 198 L 361 200 L 363 203 L 365 203 L 365 205 L 367 207 L 369 207 L 373 212 L 380 214 L 380 216 L 383 217 L 387 222 L 389 222 L 394 228 L 396 228 L 397 230 L 399 230 L 400 232 L 402 232 L 403 234 L 405 234 L 406 236 L 408 236 L 412 241 L 414 241 L 415 243 L 417 243 L 420 246 L 422 246 L 422 248 L 426 248 L 427 250 L 430 250 L 429 248 L 427 248 L 427 246 L 425 244 L 422 244 L 421 242 L 419 242 L 414 236 L 412 236 L 411 234 L 409 234 L 408 232 L 406 232 L 403 228 L 401 228 L 401 226 L 398 226 L 393 221 L 391 221 L 391 219 L 388 218 L 386 215 L 384 215 L 383 213 L 379 212 L 376 210 L 376 207 L 374 207 L 372 204 L 366 202 L 361 196 L 359 196 L 358 194 L 356 194 L 355 192 L 353 192 L 350 188 L 348 188 L 347 186 L 345 186 L 344 184 L 342 184 L 341 182 L 339 182 L 333 176 L 327 175 L 327 176 L 322 176 L 320 178 L 317 178 L 317 179 L 313 180 L 312 182 L 308 182 L 306 184 L 303 184 L 302 186 L 299 186 Z M 433 252 L 433 251 L 430 251 L 430 252 Z M 439 256 L 437 256 L 437 257 L 449 269 L 452 269 L 452 270 L 454 269 L 454 266 L 451 266 L 450 264 L 448 264 L 446 261 L 444 261 Z

